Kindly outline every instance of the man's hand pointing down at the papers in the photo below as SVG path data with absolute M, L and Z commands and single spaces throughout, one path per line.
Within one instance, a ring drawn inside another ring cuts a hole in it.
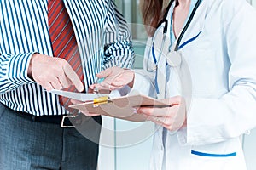
M 79 92 L 84 90 L 83 83 L 65 59 L 33 54 L 27 75 L 48 91 L 60 90 L 72 85 Z

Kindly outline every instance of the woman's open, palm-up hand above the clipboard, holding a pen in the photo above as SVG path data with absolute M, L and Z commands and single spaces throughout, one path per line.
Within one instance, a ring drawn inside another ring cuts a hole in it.
M 96 75 L 98 78 L 105 77 L 104 81 L 99 84 L 93 84 L 90 89 L 114 90 L 122 88 L 125 85 L 132 88 L 134 82 L 134 71 L 120 67 L 111 67 Z

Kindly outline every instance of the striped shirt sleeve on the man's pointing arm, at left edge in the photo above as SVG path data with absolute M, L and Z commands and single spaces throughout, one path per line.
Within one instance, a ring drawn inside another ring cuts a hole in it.
M 26 83 L 32 83 L 27 69 L 34 53 L 0 54 L 0 94 L 4 94 Z

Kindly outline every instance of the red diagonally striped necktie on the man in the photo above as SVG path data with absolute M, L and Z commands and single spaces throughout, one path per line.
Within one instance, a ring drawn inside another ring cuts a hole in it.
M 67 14 L 63 0 L 48 1 L 49 36 L 55 57 L 66 59 L 73 70 L 84 81 L 81 59 L 71 20 Z M 65 89 L 64 89 L 65 90 Z M 66 89 L 76 91 L 75 87 Z M 61 105 L 67 108 L 71 105 L 70 99 L 60 96 Z M 73 110 L 69 110 L 73 111 Z

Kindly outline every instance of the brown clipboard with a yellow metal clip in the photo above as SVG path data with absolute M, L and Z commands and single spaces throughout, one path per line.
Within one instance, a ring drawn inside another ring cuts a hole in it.
M 134 108 L 139 106 L 145 107 L 170 107 L 160 102 L 157 99 L 150 98 L 145 95 L 136 94 L 130 96 L 122 96 L 119 98 L 109 99 L 108 97 L 102 97 L 94 99 L 93 101 L 84 102 L 78 105 L 69 105 L 73 109 L 79 109 L 81 111 L 86 110 L 91 113 L 97 113 L 104 116 L 111 116 L 119 119 L 124 119 L 132 122 L 144 122 L 147 118 L 143 115 L 137 114 Z

